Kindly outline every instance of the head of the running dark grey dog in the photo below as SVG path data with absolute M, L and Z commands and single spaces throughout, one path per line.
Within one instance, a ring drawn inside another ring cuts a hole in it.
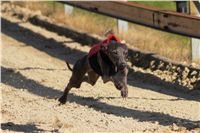
M 125 44 L 111 41 L 101 46 L 101 51 L 105 53 L 110 61 L 116 66 L 116 71 L 124 70 L 127 67 L 128 48 Z

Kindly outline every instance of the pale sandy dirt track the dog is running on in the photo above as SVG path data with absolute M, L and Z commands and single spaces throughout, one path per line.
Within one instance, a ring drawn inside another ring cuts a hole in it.
M 1 38 L 3 132 L 200 132 L 199 95 L 137 68 L 126 100 L 99 79 L 58 106 L 71 75 L 64 60 L 74 64 L 89 47 L 5 13 Z

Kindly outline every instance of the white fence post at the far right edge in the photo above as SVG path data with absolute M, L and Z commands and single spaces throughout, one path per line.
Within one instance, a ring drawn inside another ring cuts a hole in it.
M 195 1 L 195 15 L 200 17 L 200 1 Z M 192 61 L 200 61 L 200 39 L 192 38 Z

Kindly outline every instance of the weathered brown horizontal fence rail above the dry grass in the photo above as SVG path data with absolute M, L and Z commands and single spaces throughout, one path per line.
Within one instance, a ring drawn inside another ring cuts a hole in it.
M 60 2 L 162 31 L 200 38 L 200 17 L 128 2 Z

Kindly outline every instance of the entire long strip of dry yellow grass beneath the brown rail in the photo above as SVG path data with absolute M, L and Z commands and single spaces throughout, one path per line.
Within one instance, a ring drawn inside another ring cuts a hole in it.
M 87 13 L 79 9 L 76 9 L 72 15 L 67 15 L 64 14 L 62 4 L 53 5 L 47 2 L 21 2 L 20 4 L 33 11 L 41 10 L 42 14 L 55 19 L 57 22 L 89 33 L 102 36 L 105 31 L 111 28 L 118 37 L 126 40 L 130 47 L 151 51 L 182 63 L 191 63 L 190 39 L 187 37 L 164 33 L 135 24 L 129 24 L 127 33 L 119 34 L 117 33 L 116 19 L 110 17 Z

